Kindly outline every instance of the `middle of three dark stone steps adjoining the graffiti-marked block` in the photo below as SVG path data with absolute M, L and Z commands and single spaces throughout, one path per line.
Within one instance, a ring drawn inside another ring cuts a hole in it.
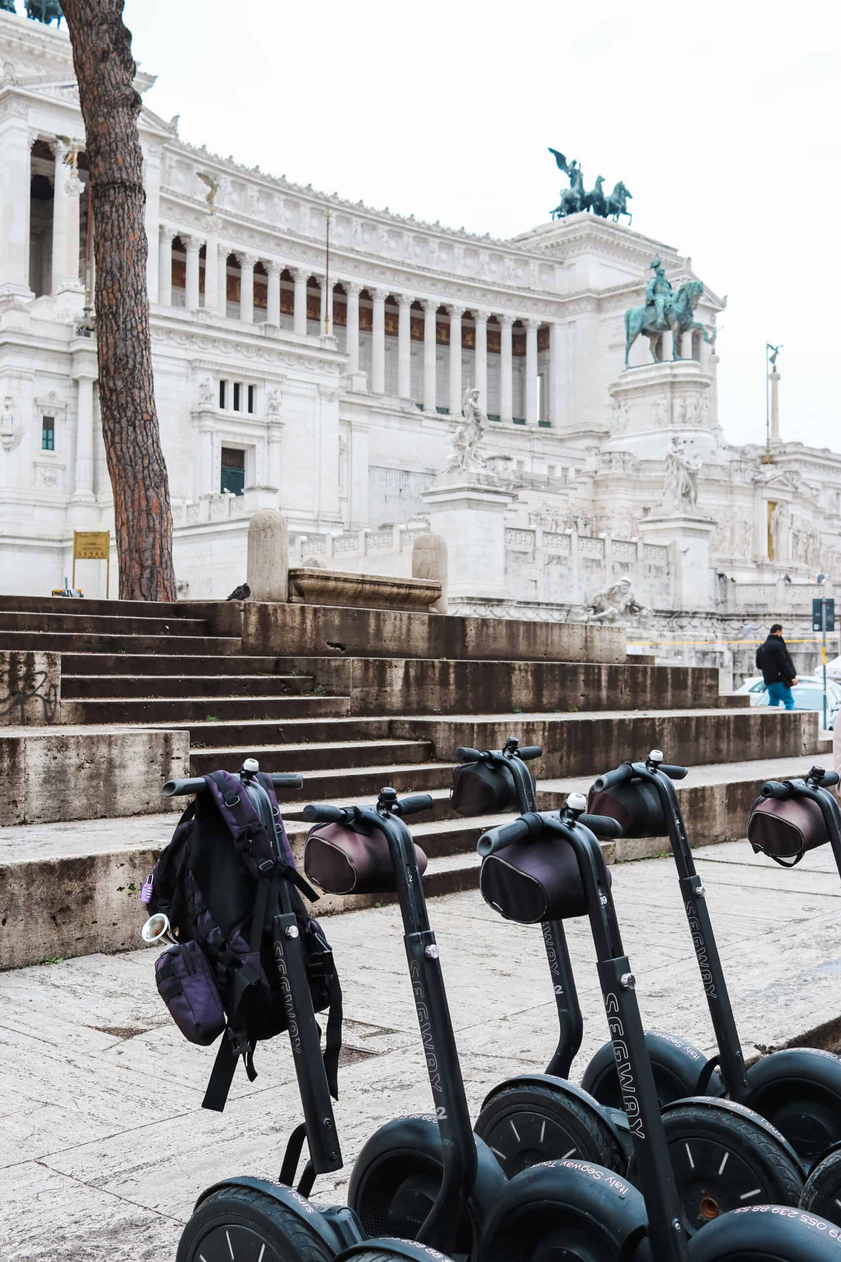
M 67 660 L 67 658 L 62 659 L 62 668 Z M 122 659 L 112 660 L 116 665 L 122 665 Z M 219 658 L 221 663 L 233 660 L 232 658 Z M 142 700 L 161 697 L 306 697 L 313 692 L 314 683 L 311 675 L 124 675 L 116 673 L 69 675 L 63 671 L 62 700 L 107 699 L 115 694 Z

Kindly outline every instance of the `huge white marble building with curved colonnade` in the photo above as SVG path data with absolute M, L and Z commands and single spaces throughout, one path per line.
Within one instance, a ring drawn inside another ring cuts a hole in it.
M 145 92 L 154 80 L 136 82 Z M 66 30 L 0 11 L 5 592 L 49 592 L 69 577 L 73 530 L 112 525 L 83 317 L 83 136 Z M 406 573 L 468 385 L 511 492 L 509 603 L 581 601 L 625 572 L 663 607 L 696 592 L 726 603 L 739 584 L 820 569 L 841 577 L 840 456 L 775 442 L 763 464 L 763 448 L 729 447 L 717 358 L 697 332 L 681 361 L 649 367 L 641 339 L 622 371 L 624 312 L 651 260 L 676 289 L 695 279 L 675 249 L 588 215 L 497 241 L 349 204 L 187 145 L 177 120 L 148 107 L 140 136 L 183 594 L 226 596 L 242 581 L 247 520 L 265 505 L 286 515 L 296 559 Z M 705 288 L 696 319 L 712 327 L 722 305 Z M 649 521 L 663 517 L 672 434 L 702 461 L 696 517 L 709 526 L 696 534 L 710 565 L 692 589 L 671 528 Z M 81 563 L 87 594 L 103 589 L 102 569 Z M 736 582 L 725 591 L 716 574 Z

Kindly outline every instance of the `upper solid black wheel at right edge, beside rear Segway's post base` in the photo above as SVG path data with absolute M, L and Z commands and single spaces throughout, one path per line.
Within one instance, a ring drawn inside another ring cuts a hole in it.
M 787 1047 L 748 1070 L 749 1108 L 782 1131 L 807 1170 L 841 1140 L 841 1058 Z

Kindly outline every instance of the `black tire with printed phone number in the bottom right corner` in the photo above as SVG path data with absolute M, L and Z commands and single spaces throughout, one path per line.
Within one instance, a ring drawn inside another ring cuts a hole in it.
M 710 1223 L 690 1241 L 690 1262 L 838 1262 L 838 1232 L 826 1219 L 754 1205 Z

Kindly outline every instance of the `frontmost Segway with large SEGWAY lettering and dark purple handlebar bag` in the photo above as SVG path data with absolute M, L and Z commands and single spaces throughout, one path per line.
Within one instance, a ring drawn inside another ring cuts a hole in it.
M 841 1233 L 826 1220 L 787 1205 L 749 1203 L 751 1198 L 741 1194 L 738 1177 L 715 1189 L 704 1179 L 682 1185 L 676 1179 L 676 1141 L 668 1137 L 661 1117 L 635 979 L 624 954 L 601 847 L 581 823 L 585 806 L 581 794 L 571 794 L 560 814 L 533 811 L 485 833 L 478 844 L 482 893 L 509 920 L 530 923 L 536 897 L 546 899 L 557 919 L 589 916 L 647 1220 L 639 1217 L 642 1198 L 629 1182 L 586 1162 L 543 1162 L 508 1182 L 485 1224 L 483 1262 L 837 1259 Z M 709 1103 L 687 1100 L 672 1108 L 702 1113 Z M 743 1112 L 736 1104 L 712 1103 L 735 1117 Z M 696 1151 L 714 1142 L 697 1140 Z M 598 1189 L 599 1204 L 596 1208 L 594 1195 L 589 1219 L 565 1195 L 561 1176 L 571 1169 L 585 1174 Z

